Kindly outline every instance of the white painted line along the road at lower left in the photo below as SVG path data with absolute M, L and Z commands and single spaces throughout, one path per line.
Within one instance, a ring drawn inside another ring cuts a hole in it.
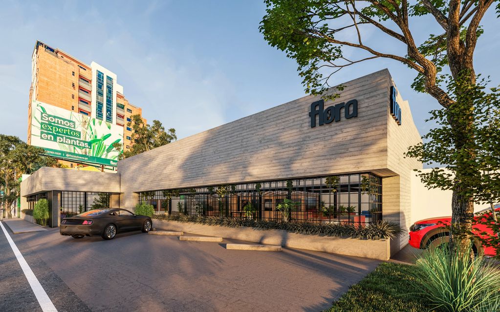
M 2 222 L 0 222 L 0 227 L 10 244 L 10 248 L 12 248 L 12 251 L 14 252 L 17 262 L 21 266 L 22 272 L 28 280 L 29 286 L 31 286 L 31 289 L 33 290 L 36 300 L 38 300 L 38 303 L 40 304 L 41 310 L 43 312 L 57 312 L 57 309 L 55 309 L 52 301 L 48 298 L 47 293 L 45 293 L 43 287 L 41 287 L 40 282 L 38 282 L 38 279 L 34 276 L 33 271 L 31 271 L 31 268 L 28 266 L 26 260 L 22 257 L 22 254 L 19 252 L 19 249 L 17 249 L 17 246 L 15 246 L 14 241 L 12 241 L 10 235 L 8 235 L 8 232 L 5 230 Z

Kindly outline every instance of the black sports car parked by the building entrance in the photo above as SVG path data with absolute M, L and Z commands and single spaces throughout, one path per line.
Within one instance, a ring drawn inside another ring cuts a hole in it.
M 151 226 L 151 218 L 147 216 L 138 216 L 125 209 L 103 208 L 62 219 L 59 233 L 73 238 L 101 236 L 105 240 L 110 240 L 118 232 L 134 230 L 149 232 Z

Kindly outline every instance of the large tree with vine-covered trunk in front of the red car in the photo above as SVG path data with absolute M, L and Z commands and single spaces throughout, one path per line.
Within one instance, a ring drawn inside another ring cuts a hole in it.
M 452 150 L 446 163 L 452 176 L 433 169 L 422 178 L 428 187 L 440 187 L 444 180 L 449 182 L 451 241 L 460 247 L 470 244 L 469 235 L 464 233 L 470 233 L 474 194 L 480 191 L 473 185 L 480 177 L 480 166 L 471 166 L 477 164 L 480 149 L 478 138 L 474 137 L 480 134 L 476 129 L 478 117 L 474 104 L 477 102 L 471 101 L 468 93 L 471 88 L 477 90 L 473 53 L 482 33 L 480 21 L 494 1 L 265 0 L 266 15 L 259 27 L 271 46 L 286 51 L 288 57 L 296 60 L 305 90 L 311 94 L 333 98 L 341 87 L 329 89 L 331 76 L 344 67 L 367 60 L 389 58 L 415 70 L 412 87 L 430 94 L 442 107 L 438 114 L 447 122 L 443 131 Z M 496 10 L 499 11 L 499 5 Z M 422 15 L 431 15 L 436 29 L 418 45 L 409 20 L 418 24 L 418 17 Z M 390 40 L 393 44 L 402 44 L 406 54 L 387 53 L 366 45 L 362 37 L 366 29 L 374 29 L 380 37 L 384 36 L 384 46 Z M 350 31 L 354 39 L 340 39 Z M 344 56 L 346 47 L 362 51 L 366 56 L 348 59 Z M 434 161 L 432 155 L 425 155 L 426 147 L 416 147 L 419 152 L 413 150 L 410 156 Z

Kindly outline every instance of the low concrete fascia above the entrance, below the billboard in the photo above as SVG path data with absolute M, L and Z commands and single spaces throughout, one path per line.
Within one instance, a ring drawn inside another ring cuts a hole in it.
M 43 167 L 21 182 L 21 196 L 52 190 L 119 193 L 120 176 L 111 172 Z

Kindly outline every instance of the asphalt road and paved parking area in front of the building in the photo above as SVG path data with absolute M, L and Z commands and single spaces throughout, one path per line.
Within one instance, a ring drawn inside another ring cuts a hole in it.
M 58 229 L 11 237 L 58 311 L 321 311 L 379 263 L 141 232 L 111 241 Z M 41 311 L 3 233 L 0 250 L 0 311 Z

